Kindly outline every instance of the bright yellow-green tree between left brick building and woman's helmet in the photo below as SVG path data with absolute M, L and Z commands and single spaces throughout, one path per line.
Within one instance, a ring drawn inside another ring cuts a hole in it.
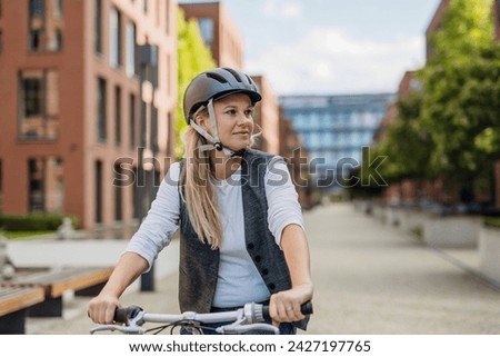
M 182 132 L 187 128 L 182 99 L 189 82 L 200 72 L 214 68 L 210 49 L 204 44 L 196 20 L 187 21 L 182 9 L 178 8 L 178 100 L 176 108 L 176 157 L 183 155 Z

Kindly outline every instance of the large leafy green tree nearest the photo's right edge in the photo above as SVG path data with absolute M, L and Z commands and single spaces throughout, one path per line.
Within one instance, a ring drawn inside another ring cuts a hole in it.
M 419 126 L 433 142 L 430 165 L 450 187 L 472 194 L 491 177 L 498 147 L 500 62 L 491 0 L 450 1 L 418 72 L 423 85 Z

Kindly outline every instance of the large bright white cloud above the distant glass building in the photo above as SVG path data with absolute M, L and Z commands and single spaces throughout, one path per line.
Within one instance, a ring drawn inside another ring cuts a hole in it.
M 316 28 L 249 59 L 247 70 L 266 75 L 278 95 L 394 92 L 404 71 L 423 61 L 423 37 L 373 42 Z

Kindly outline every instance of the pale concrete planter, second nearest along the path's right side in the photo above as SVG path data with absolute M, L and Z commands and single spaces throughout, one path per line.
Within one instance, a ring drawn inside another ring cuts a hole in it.
M 481 226 L 480 217 L 433 216 L 423 224 L 423 241 L 434 247 L 477 247 Z

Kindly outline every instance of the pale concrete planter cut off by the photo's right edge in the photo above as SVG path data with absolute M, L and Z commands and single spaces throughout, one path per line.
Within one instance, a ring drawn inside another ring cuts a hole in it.
M 479 270 L 500 284 L 500 228 L 481 227 L 479 231 Z

